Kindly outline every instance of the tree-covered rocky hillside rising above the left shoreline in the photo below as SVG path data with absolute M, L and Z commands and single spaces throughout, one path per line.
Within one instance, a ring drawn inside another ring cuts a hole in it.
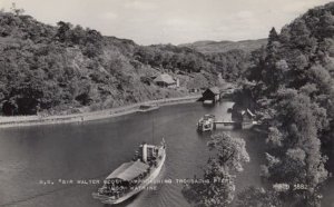
M 153 83 L 164 72 L 180 87 Z M 181 97 L 218 85 L 217 75 L 214 62 L 188 48 L 141 47 L 68 22 L 51 27 L 0 12 L 2 115 L 72 114 Z

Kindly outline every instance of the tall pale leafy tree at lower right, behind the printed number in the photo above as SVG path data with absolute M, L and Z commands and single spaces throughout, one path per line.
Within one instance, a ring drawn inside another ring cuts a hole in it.
M 271 155 L 267 154 L 264 175 L 272 183 L 307 186 L 291 190 L 286 200 L 295 197 L 295 204 L 313 206 L 320 201 L 318 187 L 327 178 L 326 158 L 322 156 L 317 137 L 327 126 L 326 112 L 310 97 L 293 89 L 281 89 L 277 98 L 276 126 L 269 128 Z

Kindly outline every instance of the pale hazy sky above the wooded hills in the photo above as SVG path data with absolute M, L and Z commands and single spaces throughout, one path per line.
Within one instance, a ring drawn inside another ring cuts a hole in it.
M 67 21 L 139 45 L 246 40 L 268 36 L 330 0 L 0 0 L 45 23 Z

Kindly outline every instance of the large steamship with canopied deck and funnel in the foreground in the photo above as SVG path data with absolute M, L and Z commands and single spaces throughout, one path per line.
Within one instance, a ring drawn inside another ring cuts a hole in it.
M 166 159 L 166 144 L 159 146 L 141 144 L 132 161 L 115 169 L 104 186 L 92 197 L 104 204 L 119 204 L 135 196 L 151 184 L 159 175 Z

